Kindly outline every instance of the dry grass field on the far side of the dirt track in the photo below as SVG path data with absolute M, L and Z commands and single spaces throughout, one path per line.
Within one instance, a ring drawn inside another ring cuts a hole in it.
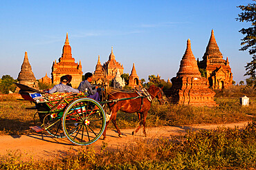
M 249 96 L 250 106 L 241 107 L 239 97 L 236 97 L 241 88 L 235 86 L 235 89 L 225 92 L 225 95 L 222 96 L 218 94 L 219 96 L 217 95 L 214 98 L 216 103 L 219 104 L 218 107 L 158 105 L 158 102 L 154 101 L 147 115 L 146 126 L 219 124 L 255 120 L 256 97 Z M 35 110 L 28 110 L 26 107 L 33 107 L 34 104 L 26 100 L 17 100 L 20 98 L 19 94 L 0 96 L 0 135 L 33 133 L 29 127 L 34 125 L 33 115 Z M 136 113 L 118 112 L 117 123 L 120 128 L 134 128 L 138 125 L 138 116 Z M 112 123 L 109 127 L 114 128 Z

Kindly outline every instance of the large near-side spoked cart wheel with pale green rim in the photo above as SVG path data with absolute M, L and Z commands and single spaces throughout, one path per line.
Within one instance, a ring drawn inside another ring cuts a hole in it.
M 91 98 L 80 98 L 70 103 L 62 118 L 66 137 L 76 145 L 90 145 L 98 140 L 105 125 L 104 110 Z

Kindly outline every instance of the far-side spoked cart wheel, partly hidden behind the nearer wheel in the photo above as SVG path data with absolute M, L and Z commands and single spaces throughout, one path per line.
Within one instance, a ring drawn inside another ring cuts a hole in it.
M 44 116 L 44 129 L 55 138 L 66 137 L 62 129 L 62 116 L 63 111 L 51 112 Z

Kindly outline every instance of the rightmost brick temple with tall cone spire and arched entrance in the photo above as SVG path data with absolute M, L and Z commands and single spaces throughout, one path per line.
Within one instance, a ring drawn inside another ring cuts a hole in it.
M 223 89 L 232 85 L 233 76 L 228 57 L 226 60 L 223 59 L 213 30 L 203 55 L 203 61 L 198 61 L 198 66 L 206 70 L 206 78 L 212 89 Z

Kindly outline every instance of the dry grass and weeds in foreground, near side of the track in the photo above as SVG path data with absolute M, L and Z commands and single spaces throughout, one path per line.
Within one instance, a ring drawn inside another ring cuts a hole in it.
M 243 129 L 219 128 L 188 131 L 171 140 L 136 140 L 120 149 L 102 142 L 93 147 L 71 149 L 68 155 L 53 160 L 21 161 L 21 153 L 0 156 L 0 169 L 255 169 L 256 124 Z

